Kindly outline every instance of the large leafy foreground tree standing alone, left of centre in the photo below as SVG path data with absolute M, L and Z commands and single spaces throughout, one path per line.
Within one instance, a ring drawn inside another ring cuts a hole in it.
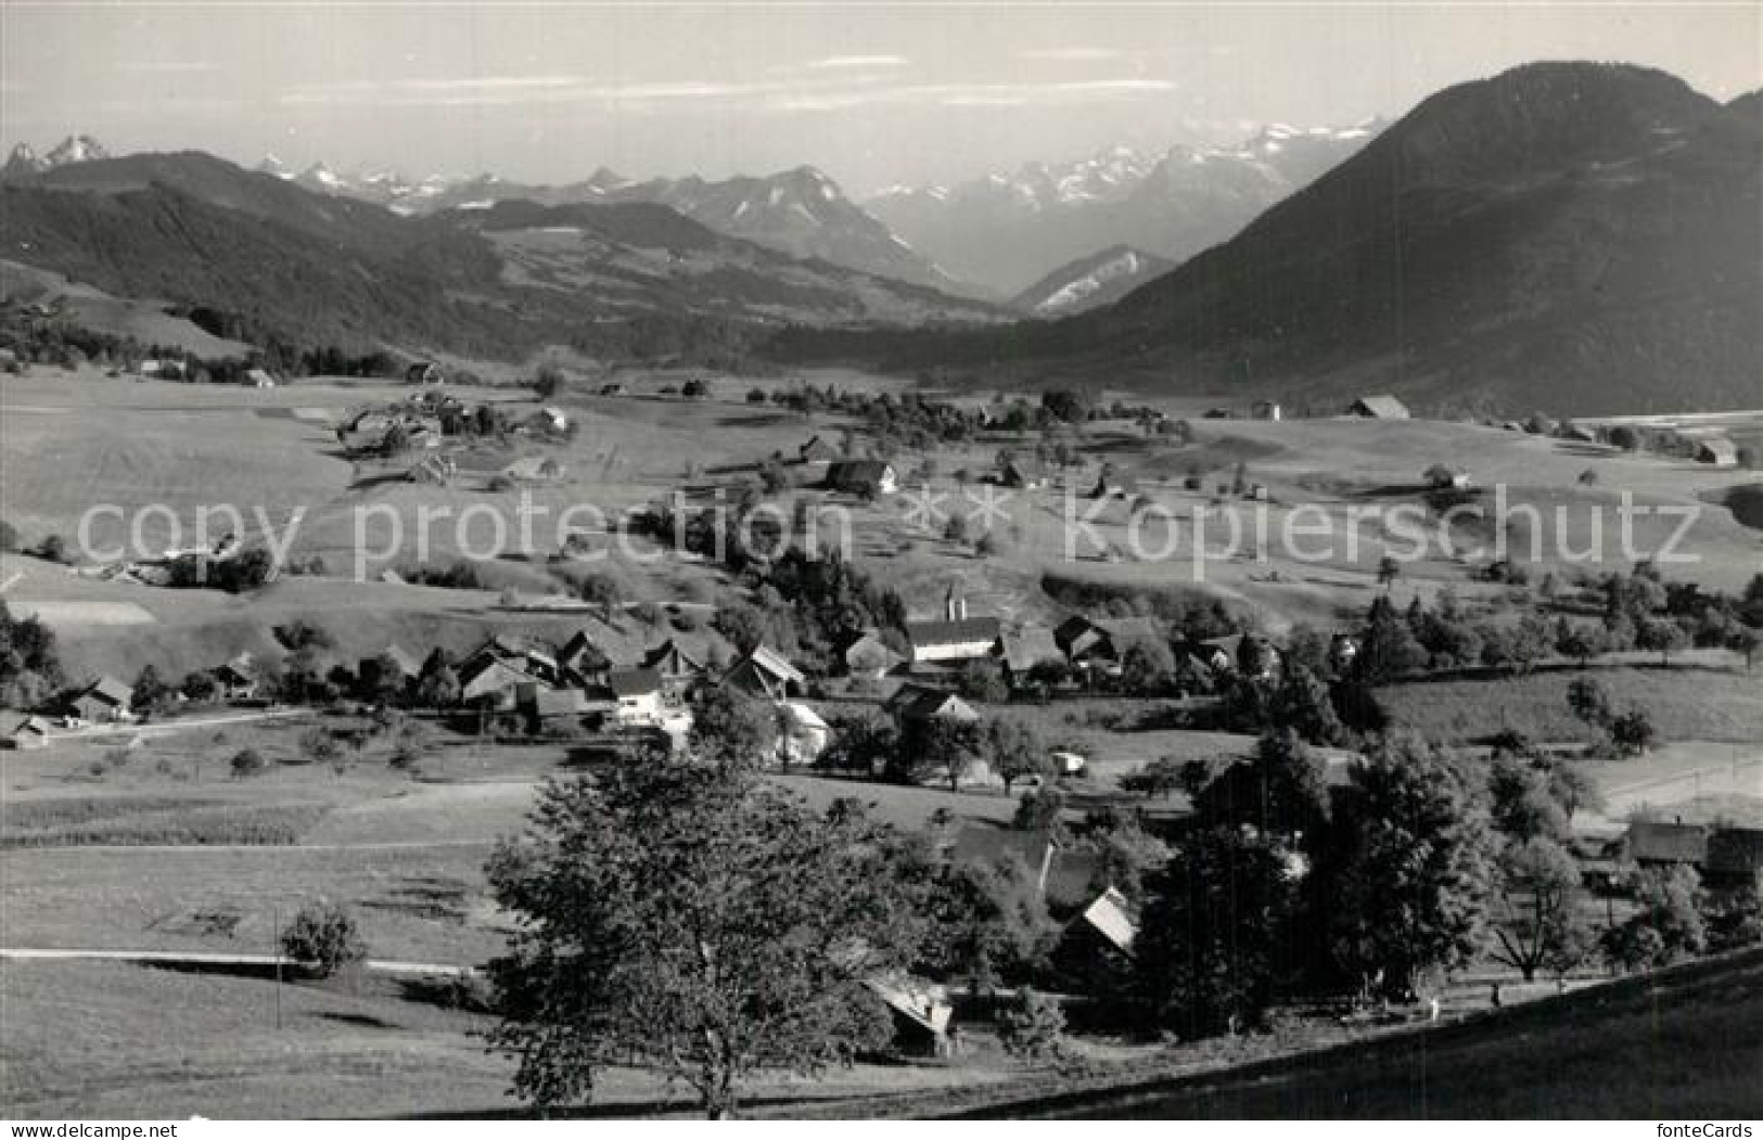
M 548 1110 L 636 1064 L 730 1117 L 760 1070 L 815 1075 L 880 1048 L 889 1022 L 864 981 L 924 941 L 920 865 L 899 851 L 850 802 L 816 816 L 751 765 L 547 784 L 525 839 L 488 865 L 520 918 L 490 964 L 515 1094 Z

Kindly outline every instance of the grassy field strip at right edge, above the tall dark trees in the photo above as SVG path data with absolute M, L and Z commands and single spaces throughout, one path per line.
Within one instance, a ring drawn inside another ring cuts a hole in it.
M 1603 684 L 1617 708 L 1645 707 L 1663 740 L 1763 740 L 1763 677 L 1714 670 L 1617 668 L 1386 685 L 1377 698 L 1393 721 L 1440 740 L 1479 740 L 1516 729 L 1534 740 L 1581 740 L 1567 707 L 1580 677 Z

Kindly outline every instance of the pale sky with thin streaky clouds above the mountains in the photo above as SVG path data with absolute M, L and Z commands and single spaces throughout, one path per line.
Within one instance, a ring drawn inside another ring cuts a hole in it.
M 1763 86 L 1763 5 L 0 0 L 0 143 L 524 181 L 809 164 L 862 196 L 1395 118 L 1539 58 L 1726 100 Z

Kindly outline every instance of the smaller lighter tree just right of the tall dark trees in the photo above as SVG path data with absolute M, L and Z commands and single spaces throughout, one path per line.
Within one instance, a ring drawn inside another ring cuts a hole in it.
M 1500 913 L 1493 957 L 1534 981 L 1539 969 L 1564 974 L 1590 950 L 1580 916 L 1580 865 L 1550 837 L 1511 842 L 1500 853 Z

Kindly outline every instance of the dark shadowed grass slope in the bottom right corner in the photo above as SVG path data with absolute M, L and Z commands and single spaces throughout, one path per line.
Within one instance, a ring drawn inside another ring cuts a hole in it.
M 1437 1031 L 1238 1071 L 1026 1094 L 973 1115 L 1747 1119 L 1763 1110 L 1758 1071 L 1763 951 L 1747 951 Z

